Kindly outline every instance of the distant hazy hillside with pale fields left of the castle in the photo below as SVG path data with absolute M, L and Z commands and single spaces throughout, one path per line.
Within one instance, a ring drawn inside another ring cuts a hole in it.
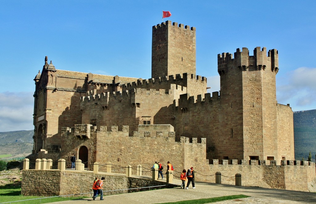
M 34 130 L 0 132 L 0 159 L 24 158 L 32 153 Z

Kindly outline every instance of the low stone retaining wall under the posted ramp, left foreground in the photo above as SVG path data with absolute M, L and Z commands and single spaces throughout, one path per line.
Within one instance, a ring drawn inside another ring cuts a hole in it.
M 108 175 L 102 174 L 101 172 L 99 174 L 94 174 L 92 172 L 80 171 L 23 170 L 21 194 L 25 196 L 52 196 L 89 192 L 93 193 L 92 184 L 95 177 L 105 177 L 103 181 L 103 191 L 165 184 L 160 181 L 153 181 L 149 178 Z M 139 191 L 139 189 L 104 192 L 104 195 L 114 195 L 136 191 Z

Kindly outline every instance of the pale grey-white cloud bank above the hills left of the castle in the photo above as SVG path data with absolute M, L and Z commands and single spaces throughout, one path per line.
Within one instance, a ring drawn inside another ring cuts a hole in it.
M 32 92 L 0 93 L 0 132 L 33 129 Z

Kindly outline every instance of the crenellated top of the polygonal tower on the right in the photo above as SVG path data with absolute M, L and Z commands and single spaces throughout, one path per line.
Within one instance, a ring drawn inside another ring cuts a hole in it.
M 249 56 L 249 50 L 243 47 L 242 50 L 239 48 L 234 52 L 234 58 L 230 53 L 222 53 L 217 55 L 217 66 L 219 75 L 225 74 L 228 68 L 237 67 L 240 70 L 247 70 L 248 68 L 256 70 L 265 70 L 269 68 L 271 71 L 277 73 L 279 66 L 278 51 L 272 49 L 268 51 L 263 47 L 256 47 L 253 50 L 253 56 Z

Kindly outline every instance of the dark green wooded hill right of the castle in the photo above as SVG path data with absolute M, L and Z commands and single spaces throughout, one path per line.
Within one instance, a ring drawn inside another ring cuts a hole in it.
M 312 161 L 316 154 L 316 110 L 296 111 L 294 119 L 294 151 L 295 159 L 305 161 L 312 152 Z

